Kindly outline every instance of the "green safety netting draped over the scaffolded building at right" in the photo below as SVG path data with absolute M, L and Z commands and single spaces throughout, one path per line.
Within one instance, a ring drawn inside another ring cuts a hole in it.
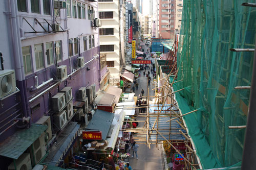
M 174 84 L 176 100 L 204 169 L 240 164 L 246 125 L 253 52 L 229 48 L 254 48 L 256 8 L 241 6 L 255 1 L 183 0 Z M 172 79 L 170 80 L 172 82 Z

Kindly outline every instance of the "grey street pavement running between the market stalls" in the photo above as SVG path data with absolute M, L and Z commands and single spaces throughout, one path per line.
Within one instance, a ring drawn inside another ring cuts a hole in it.
M 144 46 L 144 52 L 146 52 L 147 47 Z M 146 70 L 148 71 L 148 69 Z M 140 71 L 140 83 L 139 83 L 139 88 L 138 90 L 135 90 L 136 96 L 138 96 L 141 93 L 141 90 L 144 89 L 145 94 L 147 95 L 147 77 L 143 77 L 143 70 Z M 155 86 L 153 86 L 154 81 L 153 81 L 153 75 L 150 74 L 151 77 L 151 85 L 148 86 L 150 88 L 150 94 L 149 95 L 155 95 L 154 94 L 154 90 L 152 90 L 152 88 L 154 88 Z M 145 99 L 145 98 L 143 98 Z M 153 102 L 153 99 L 150 99 L 150 103 Z M 139 110 L 136 110 L 136 113 L 139 113 Z M 145 117 L 137 117 L 137 120 L 145 120 Z M 138 128 L 142 128 L 143 127 L 143 122 L 140 122 L 138 125 Z M 136 134 L 134 135 L 136 136 Z M 135 139 L 136 141 L 136 139 Z M 144 141 L 138 141 L 137 143 L 142 143 Z M 139 144 L 139 149 L 138 149 L 138 160 L 136 159 L 136 155 L 134 153 L 134 158 L 130 157 L 129 162 L 131 167 L 134 170 L 139 170 L 139 169 L 164 169 L 164 162 L 162 161 L 162 148 L 160 148 L 161 145 L 159 144 L 158 147 L 156 147 L 156 144 L 151 144 L 151 149 L 149 149 L 147 147 L 146 144 Z M 133 154 L 133 151 L 130 151 L 131 155 Z

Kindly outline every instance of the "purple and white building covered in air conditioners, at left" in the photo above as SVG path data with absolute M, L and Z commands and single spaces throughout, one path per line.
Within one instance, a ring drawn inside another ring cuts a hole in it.
M 104 61 L 99 63 L 98 3 L 1 4 L 1 169 L 17 168 L 24 160 L 32 169 L 42 158 L 61 166 L 63 160 L 70 161 L 69 151 L 79 148 L 73 105 L 88 121 L 87 104 L 100 84 L 108 83 L 100 77 L 107 69 Z M 58 140 L 59 134 L 68 135 Z

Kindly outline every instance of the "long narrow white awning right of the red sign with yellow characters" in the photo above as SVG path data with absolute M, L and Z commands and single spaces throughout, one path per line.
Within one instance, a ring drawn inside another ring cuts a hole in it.
M 120 112 L 115 112 L 115 121 L 113 119 L 112 125 L 111 125 L 111 129 L 109 130 L 109 134 L 108 136 L 110 136 L 110 138 L 106 139 L 108 140 L 108 148 L 112 148 L 115 149 L 115 145 L 116 145 L 116 140 L 119 134 L 119 129 L 120 127 L 122 127 L 123 124 L 123 120 L 124 120 L 124 112 L 120 111 Z

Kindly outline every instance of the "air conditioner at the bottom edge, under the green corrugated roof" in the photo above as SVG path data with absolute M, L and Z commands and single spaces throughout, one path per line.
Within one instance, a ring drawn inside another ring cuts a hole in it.
M 31 165 L 31 159 L 30 159 L 30 154 L 29 153 L 24 153 L 22 154 L 16 161 L 15 161 L 15 166 L 16 169 L 24 169 L 24 170 L 29 170 L 32 169 Z M 14 162 L 12 162 L 8 166 L 8 170 L 14 170 L 15 169 Z

